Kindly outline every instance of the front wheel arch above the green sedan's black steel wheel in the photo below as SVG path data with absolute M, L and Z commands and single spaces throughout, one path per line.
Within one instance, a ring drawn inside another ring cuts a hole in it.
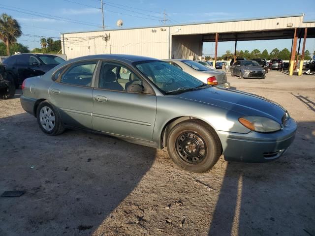
M 166 147 L 166 139 L 168 136 L 168 132 L 178 123 L 181 123 L 185 120 L 190 120 L 190 119 L 194 119 L 194 120 L 199 120 L 200 122 L 202 122 L 204 125 L 208 126 L 209 128 L 215 130 L 211 124 L 209 124 L 208 122 L 204 121 L 203 119 L 200 118 L 196 118 L 196 117 L 191 117 L 191 116 L 182 116 L 182 117 L 176 117 L 176 118 L 172 118 L 170 119 L 163 127 L 162 132 L 160 134 L 160 147 L 159 148 L 165 148 Z M 220 140 L 220 139 L 219 139 Z

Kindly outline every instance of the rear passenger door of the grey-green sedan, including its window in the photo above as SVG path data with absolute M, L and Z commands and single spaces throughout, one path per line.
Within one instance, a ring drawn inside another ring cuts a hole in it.
M 57 71 L 49 88 L 53 104 L 66 125 L 92 129 L 93 78 L 98 60 L 75 62 Z

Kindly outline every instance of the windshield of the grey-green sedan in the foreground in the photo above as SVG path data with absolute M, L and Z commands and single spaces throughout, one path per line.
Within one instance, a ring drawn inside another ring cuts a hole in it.
M 195 77 L 164 61 L 143 61 L 135 66 L 165 93 L 206 86 Z

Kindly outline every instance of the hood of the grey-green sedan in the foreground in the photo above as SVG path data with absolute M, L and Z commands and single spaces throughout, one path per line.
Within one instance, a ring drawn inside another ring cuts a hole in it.
M 188 91 L 177 97 L 218 106 L 239 113 L 241 116 L 262 116 L 282 123 L 285 109 L 264 97 L 251 93 L 211 87 L 208 89 Z

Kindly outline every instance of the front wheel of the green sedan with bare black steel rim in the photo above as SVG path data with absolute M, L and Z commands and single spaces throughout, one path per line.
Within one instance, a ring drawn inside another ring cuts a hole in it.
M 210 170 L 222 152 L 217 133 L 199 120 L 175 125 L 168 134 L 166 146 L 175 164 L 195 173 Z

